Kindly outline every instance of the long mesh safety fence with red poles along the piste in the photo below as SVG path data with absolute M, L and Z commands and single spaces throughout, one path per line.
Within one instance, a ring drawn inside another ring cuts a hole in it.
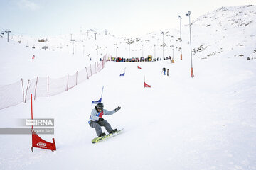
M 30 79 L 26 89 L 23 86 L 23 79 L 14 84 L 0 86 L 0 109 L 8 108 L 21 102 L 26 103 L 30 99 L 30 94 L 36 100 L 38 97 L 49 97 L 68 91 L 89 79 L 93 74 L 100 72 L 105 67 L 105 62 L 107 62 L 107 55 L 103 57 L 101 62 L 90 64 L 90 66 L 72 75 L 67 74 L 58 79 L 52 79 L 49 76 Z

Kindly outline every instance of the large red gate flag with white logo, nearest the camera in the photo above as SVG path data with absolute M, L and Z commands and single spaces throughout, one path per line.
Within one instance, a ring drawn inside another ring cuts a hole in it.
M 32 147 L 38 147 L 41 149 L 49 149 L 49 150 L 56 150 L 55 140 L 53 138 L 53 143 L 47 142 L 39 137 L 36 132 L 32 130 Z

